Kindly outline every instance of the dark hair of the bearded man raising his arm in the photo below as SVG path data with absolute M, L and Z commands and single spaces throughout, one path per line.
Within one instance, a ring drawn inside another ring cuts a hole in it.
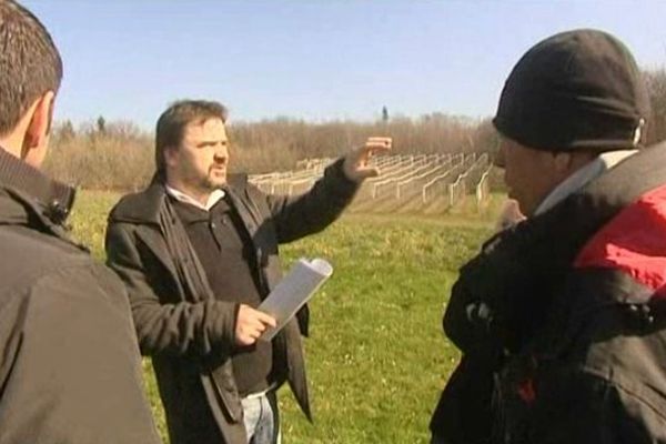
M 220 119 L 226 123 L 228 111 L 220 102 L 209 100 L 179 100 L 173 102 L 158 119 L 155 129 L 155 167 L 163 173 L 167 165 L 164 150 L 178 147 L 185 127 L 192 122 L 203 123 L 209 119 Z

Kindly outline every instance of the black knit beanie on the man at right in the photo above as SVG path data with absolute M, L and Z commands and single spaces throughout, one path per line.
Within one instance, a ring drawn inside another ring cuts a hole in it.
M 555 34 L 529 49 L 506 79 L 495 128 L 547 151 L 642 147 L 647 87 L 629 50 L 596 30 Z

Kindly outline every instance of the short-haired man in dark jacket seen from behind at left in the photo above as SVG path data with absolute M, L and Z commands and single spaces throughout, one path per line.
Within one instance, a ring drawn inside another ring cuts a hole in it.
M 0 1 L 0 443 L 158 443 L 122 282 L 62 224 L 74 190 L 38 169 L 60 54 Z

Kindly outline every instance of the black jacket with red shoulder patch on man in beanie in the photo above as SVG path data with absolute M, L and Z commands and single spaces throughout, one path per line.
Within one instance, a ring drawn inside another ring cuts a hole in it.
M 666 443 L 666 145 L 635 154 L 461 270 L 463 357 L 431 430 L 456 443 Z

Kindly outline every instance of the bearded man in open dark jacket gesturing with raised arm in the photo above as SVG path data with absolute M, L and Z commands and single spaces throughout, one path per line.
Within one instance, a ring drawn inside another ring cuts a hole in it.
M 269 444 L 280 440 L 276 389 L 289 381 L 310 417 L 302 310 L 271 341 L 275 320 L 256 310 L 281 279 L 278 244 L 319 232 L 377 171 L 369 155 L 391 139 L 330 165 L 297 198 L 266 195 L 229 176 L 226 110 L 181 101 L 160 117 L 157 174 L 124 196 L 107 232 L 109 264 L 130 289 L 144 354 L 152 356 L 172 444 Z

